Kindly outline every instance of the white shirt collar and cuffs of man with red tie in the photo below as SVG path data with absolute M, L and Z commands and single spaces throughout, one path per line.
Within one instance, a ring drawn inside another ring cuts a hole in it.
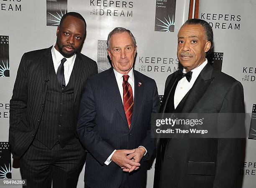
M 123 74 L 121 73 L 118 73 L 115 69 L 114 70 L 114 73 L 115 73 L 115 79 L 116 79 L 116 82 L 118 84 L 118 89 L 119 89 L 119 92 L 120 92 L 120 96 L 122 98 L 122 102 L 123 102 Z M 133 75 L 133 68 L 130 70 L 130 72 L 128 73 L 129 75 L 129 78 L 128 78 L 128 83 L 131 85 L 132 87 L 132 90 L 133 90 L 133 100 L 134 100 L 134 75 Z M 143 147 L 142 145 L 140 145 L 139 147 Z M 146 148 L 143 147 L 145 150 Z M 112 156 L 114 155 L 116 150 L 114 150 L 111 155 L 109 155 L 108 159 L 105 161 L 105 165 L 109 165 L 109 163 L 111 162 L 111 158 Z M 144 155 L 146 155 L 147 153 L 147 150 L 145 152 Z

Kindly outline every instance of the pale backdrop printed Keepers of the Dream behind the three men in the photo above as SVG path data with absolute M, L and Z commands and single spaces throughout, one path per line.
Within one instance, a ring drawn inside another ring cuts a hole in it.
M 214 62 L 243 83 L 246 112 L 256 115 L 256 2 L 200 1 L 199 18 L 212 25 Z M 19 165 L 10 164 L 9 103 L 23 53 L 48 48 L 56 41 L 56 26 L 67 12 L 78 12 L 87 22 L 82 53 L 95 60 L 99 72 L 110 67 L 106 40 L 115 27 L 133 33 L 138 50 L 135 69 L 156 80 L 159 98 L 166 77 L 178 69 L 177 33 L 188 18 L 189 0 L 0 0 L 0 178 L 20 179 Z M 234 101 L 236 102 L 236 101 Z M 255 104 L 254 104 L 255 103 Z M 256 135 L 251 121 L 250 134 Z M 256 136 L 254 136 L 255 138 Z M 83 188 L 83 171 L 78 188 Z M 244 188 L 256 185 L 256 140 L 247 141 Z M 147 188 L 153 186 L 153 168 Z M 17 187 L 17 186 L 15 186 Z

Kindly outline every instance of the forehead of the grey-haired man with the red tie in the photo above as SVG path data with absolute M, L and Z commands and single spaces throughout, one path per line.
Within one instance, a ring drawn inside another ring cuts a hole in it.
M 115 33 L 110 38 L 110 45 L 113 47 L 121 47 L 127 45 L 133 45 L 133 40 L 128 32 Z

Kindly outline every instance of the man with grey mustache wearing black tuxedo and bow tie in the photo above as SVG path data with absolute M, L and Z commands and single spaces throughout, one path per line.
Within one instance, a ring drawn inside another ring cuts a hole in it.
M 182 25 L 177 57 L 184 68 L 166 79 L 160 113 L 213 113 L 218 120 L 206 124 L 219 131 L 232 121 L 224 113 L 244 113 L 243 87 L 207 62 L 212 48 L 212 28 L 206 21 L 190 19 Z M 154 188 L 236 187 L 245 149 L 242 133 L 240 138 L 183 136 L 174 133 L 158 140 Z

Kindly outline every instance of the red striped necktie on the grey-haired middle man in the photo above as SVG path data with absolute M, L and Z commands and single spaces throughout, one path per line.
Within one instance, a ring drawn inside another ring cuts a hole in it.
M 125 110 L 128 127 L 131 127 L 131 118 L 133 115 L 133 90 L 128 83 L 129 75 L 123 75 L 123 108 Z

